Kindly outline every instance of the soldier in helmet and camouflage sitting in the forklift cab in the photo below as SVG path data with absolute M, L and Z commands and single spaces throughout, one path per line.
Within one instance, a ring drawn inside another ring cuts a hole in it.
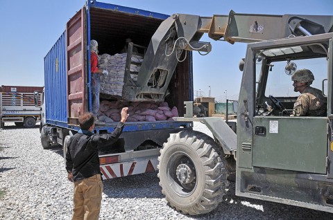
M 293 105 L 293 116 L 326 116 L 327 99 L 319 89 L 310 85 L 314 74 L 306 68 L 300 69 L 291 76 L 293 91 L 300 92 Z

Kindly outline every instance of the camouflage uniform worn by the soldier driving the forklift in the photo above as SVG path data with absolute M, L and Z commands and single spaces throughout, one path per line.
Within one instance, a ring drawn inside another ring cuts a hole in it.
M 327 100 L 321 90 L 311 86 L 298 96 L 293 105 L 294 116 L 326 116 Z

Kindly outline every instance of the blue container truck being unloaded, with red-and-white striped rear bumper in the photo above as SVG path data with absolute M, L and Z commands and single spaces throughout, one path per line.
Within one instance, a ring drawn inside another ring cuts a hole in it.
M 92 111 L 90 41 L 99 42 L 99 55 L 115 55 L 121 52 L 129 37 L 144 56 L 151 37 L 167 17 L 169 15 L 137 8 L 87 1 L 87 6 L 68 21 L 64 33 L 44 57 L 44 117 L 40 127 L 44 148 L 59 143 L 66 152 L 70 134 L 80 129 L 78 117 Z M 169 95 L 164 99 L 169 107 L 178 109 L 179 116 L 185 113 L 184 101 L 193 100 L 192 76 L 192 54 L 187 52 L 185 62 L 180 62 L 173 73 L 167 88 Z M 121 102 L 125 106 L 133 104 L 105 93 L 100 94 L 100 99 L 101 102 Z M 110 133 L 117 123 L 96 126 L 94 133 Z M 191 129 L 192 125 L 192 122 L 175 120 L 126 122 L 117 143 L 101 149 L 101 161 L 117 158 L 111 160 L 113 163 L 101 162 L 103 178 L 155 171 L 157 156 L 169 135 Z

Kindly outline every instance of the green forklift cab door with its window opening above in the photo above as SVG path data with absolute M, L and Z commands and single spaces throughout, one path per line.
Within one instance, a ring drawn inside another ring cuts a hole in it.
M 291 75 L 307 68 L 314 73 L 312 87 L 327 98 L 326 42 L 304 42 L 255 52 L 255 109 L 253 165 L 326 174 L 327 117 L 293 117 Z

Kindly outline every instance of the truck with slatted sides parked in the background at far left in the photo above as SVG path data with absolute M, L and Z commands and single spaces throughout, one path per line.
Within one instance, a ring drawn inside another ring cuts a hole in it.
M 18 127 L 35 127 L 40 121 L 41 109 L 35 107 L 34 92 L 43 91 L 42 86 L 1 86 L 0 123 L 14 122 Z M 40 103 L 40 96 L 37 97 Z

